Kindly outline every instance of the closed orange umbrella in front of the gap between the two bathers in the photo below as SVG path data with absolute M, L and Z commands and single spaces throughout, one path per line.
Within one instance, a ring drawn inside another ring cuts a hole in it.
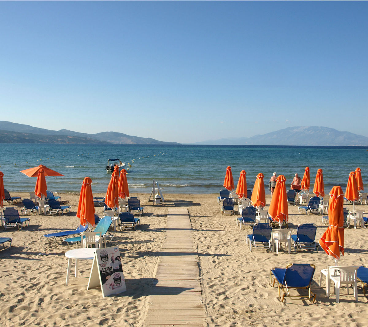
M 288 221 L 289 210 L 287 208 L 287 195 L 286 195 L 286 178 L 284 175 L 279 175 L 276 178 L 276 186 L 273 191 L 268 214 L 274 221 L 278 221 L 280 226 L 283 221 Z

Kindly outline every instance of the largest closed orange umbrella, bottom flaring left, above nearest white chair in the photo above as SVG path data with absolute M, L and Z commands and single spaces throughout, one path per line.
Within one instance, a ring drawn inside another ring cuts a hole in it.
M 340 259 L 344 255 L 344 193 L 341 186 L 334 186 L 330 192 L 330 203 L 328 207 L 328 221 L 330 226 L 319 240 L 319 245 L 329 255 Z

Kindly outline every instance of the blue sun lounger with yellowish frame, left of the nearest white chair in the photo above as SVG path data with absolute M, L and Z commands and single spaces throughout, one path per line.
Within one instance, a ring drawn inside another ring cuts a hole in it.
M 294 263 L 289 264 L 286 268 L 273 268 L 270 271 L 270 284 L 275 286 L 277 281 L 277 287 L 279 289 L 279 299 L 284 302 L 284 297 L 289 296 L 294 300 L 310 300 L 314 303 L 316 294 L 311 291 L 311 283 L 316 267 L 314 264 L 306 263 Z M 272 284 L 273 276 L 273 284 Z M 306 289 L 308 295 L 290 295 L 289 289 Z M 281 291 L 283 292 L 281 298 Z M 285 292 L 286 291 L 286 292 Z

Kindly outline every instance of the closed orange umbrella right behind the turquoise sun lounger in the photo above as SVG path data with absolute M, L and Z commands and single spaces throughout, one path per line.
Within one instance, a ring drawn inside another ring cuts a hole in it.
M 87 223 L 95 226 L 95 204 L 93 203 L 91 185 L 92 179 L 85 177 L 81 187 L 77 209 L 77 217 L 80 219 L 81 225 L 83 226 Z

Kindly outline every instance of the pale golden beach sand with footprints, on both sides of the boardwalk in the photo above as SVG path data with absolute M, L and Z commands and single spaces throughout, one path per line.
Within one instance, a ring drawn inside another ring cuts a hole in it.
M 11 193 L 29 197 L 28 193 Z M 47 242 L 45 233 L 75 229 L 79 194 L 58 193 L 62 204 L 71 205 L 64 215 L 32 215 L 31 225 L 21 231 L 1 231 L 1 237 L 13 238 L 11 249 L 0 251 L 2 273 L 2 326 L 145 326 L 149 295 L 165 238 L 166 215 L 169 208 L 187 207 L 197 244 L 202 299 L 206 310 L 205 326 L 366 326 L 367 298 L 358 284 L 358 302 L 346 289 L 325 297 L 318 287 L 322 268 L 333 260 L 321 249 L 318 253 L 300 250 L 291 254 L 281 250 L 270 253 L 263 247 L 246 246 L 251 227 L 240 230 L 237 215 L 221 215 L 217 194 L 164 194 L 165 202 L 152 205 L 149 194 L 139 196 L 145 214 L 137 231 L 113 231 L 108 246 L 118 246 L 123 264 L 127 291 L 117 296 L 102 297 L 99 288 L 86 290 L 92 260 L 79 263 L 78 278 L 72 266 L 69 285 L 65 286 L 68 260 L 65 252 L 78 247 L 61 242 Z M 94 194 L 104 196 L 105 194 Z M 266 209 L 270 196 L 266 198 Z M 4 204 L 5 205 L 5 204 Z M 15 205 L 20 210 L 21 203 Z M 352 205 L 345 205 L 352 210 Z M 367 205 L 356 206 L 368 210 Z M 96 207 L 102 216 L 102 207 Z M 25 217 L 22 215 L 21 217 Z M 299 214 L 289 205 L 289 228 L 313 222 L 319 239 L 326 229 L 320 215 Z M 367 230 L 345 229 L 345 256 L 341 265 L 368 266 Z M 42 256 L 40 253 L 46 253 Z M 278 299 L 277 287 L 269 284 L 270 268 L 284 268 L 289 263 L 313 263 L 316 266 L 312 291 L 316 302 Z M 325 281 L 323 281 L 323 286 Z

